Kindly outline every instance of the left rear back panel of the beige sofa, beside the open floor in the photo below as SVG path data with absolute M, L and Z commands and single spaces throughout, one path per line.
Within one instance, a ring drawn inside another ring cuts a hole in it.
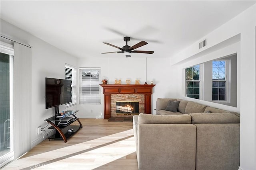
M 196 126 L 138 124 L 139 170 L 195 170 Z

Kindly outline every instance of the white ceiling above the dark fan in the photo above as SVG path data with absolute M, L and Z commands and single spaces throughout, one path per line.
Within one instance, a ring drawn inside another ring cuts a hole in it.
M 252 1 L 0 1 L 1 18 L 75 57 L 117 57 L 108 42 L 172 57 L 234 18 Z M 232 28 L 230 28 L 232 29 Z M 33 44 L 30 44 L 33 46 Z

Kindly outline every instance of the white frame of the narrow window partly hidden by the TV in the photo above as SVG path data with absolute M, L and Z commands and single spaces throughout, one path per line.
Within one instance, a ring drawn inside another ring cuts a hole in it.
M 66 75 L 66 68 L 71 69 L 72 70 L 72 76 L 71 78 L 66 78 L 66 77 L 70 77 L 70 75 Z M 77 91 L 76 91 L 76 67 L 72 66 L 70 64 L 65 64 L 65 79 L 66 80 L 72 80 L 71 81 L 71 88 L 72 88 L 72 102 L 65 104 L 65 107 L 71 107 L 71 106 L 75 106 L 76 102 L 77 102 Z

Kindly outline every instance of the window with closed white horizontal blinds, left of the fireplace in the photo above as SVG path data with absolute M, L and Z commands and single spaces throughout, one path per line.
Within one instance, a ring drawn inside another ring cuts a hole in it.
M 79 104 L 100 104 L 100 68 L 79 69 Z

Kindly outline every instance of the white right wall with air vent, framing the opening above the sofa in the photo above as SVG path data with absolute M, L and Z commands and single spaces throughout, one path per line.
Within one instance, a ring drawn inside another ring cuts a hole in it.
M 254 4 L 253 6 L 251 6 L 250 8 L 248 8 L 247 10 L 233 18 L 232 20 L 218 27 L 205 37 L 202 37 L 201 39 L 207 38 L 207 47 L 198 50 L 199 41 L 195 42 L 190 47 L 187 47 L 179 54 L 174 56 L 171 60 L 171 64 L 179 68 L 178 77 L 176 75 L 172 75 L 172 79 L 176 78 L 177 82 L 175 84 L 174 89 L 178 91 L 178 96 L 180 96 L 180 98 L 185 98 L 183 90 L 184 81 L 182 78 L 180 78 L 184 74 L 184 70 L 181 69 L 185 68 L 186 66 L 189 66 L 190 64 L 194 65 L 198 63 L 203 63 L 207 60 L 213 60 L 214 57 L 216 56 L 211 54 L 214 53 L 219 53 L 221 56 L 225 56 L 227 51 L 232 51 L 232 49 L 234 49 L 234 46 L 238 45 L 238 47 L 236 47 L 238 57 L 238 107 L 224 106 L 201 100 L 195 101 L 222 109 L 240 112 L 241 170 L 256 169 L 255 8 L 256 6 Z M 236 43 L 236 41 L 229 41 L 231 39 L 234 39 L 233 37 L 236 37 L 238 35 L 240 35 L 240 40 L 238 43 Z M 212 57 L 207 58 L 208 56 Z

